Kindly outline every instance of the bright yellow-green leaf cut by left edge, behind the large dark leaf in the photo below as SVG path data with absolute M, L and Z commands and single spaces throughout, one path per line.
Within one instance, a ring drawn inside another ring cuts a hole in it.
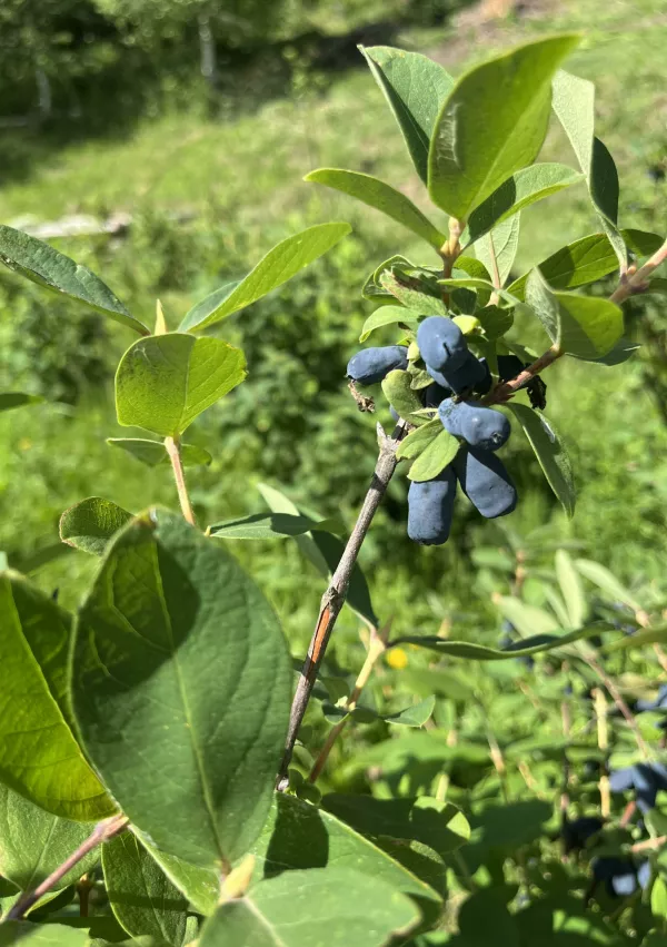
M 56 816 L 117 811 L 69 727 L 69 615 L 14 572 L 0 574 L 0 780 Z

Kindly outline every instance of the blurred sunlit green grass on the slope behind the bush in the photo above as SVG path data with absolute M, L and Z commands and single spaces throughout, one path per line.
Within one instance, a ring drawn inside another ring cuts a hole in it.
M 461 28 L 445 34 L 412 30 L 406 42 L 437 55 L 456 72 L 488 49 L 499 50 L 546 31 L 569 29 L 586 33 L 581 50 L 568 68 L 596 81 L 599 134 L 617 159 L 624 188 L 621 223 L 664 230 L 667 187 L 654 184 L 647 176 L 650 167 L 664 162 L 667 140 L 663 66 L 667 16 L 660 0 L 558 3 L 547 8 L 544 17 L 514 19 L 500 27 Z M 12 147 L 12 140 L 18 147 L 19 139 L 12 136 L 22 134 L 8 136 L 7 147 Z M 26 146 L 24 140 L 20 144 Z M 573 161 L 557 129 L 549 136 L 545 158 Z M 316 300 L 312 310 L 303 309 L 299 316 L 319 319 L 325 333 L 332 331 L 327 329 L 331 313 L 345 313 L 345 328 L 337 329 L 345 332 L 337 349 L 337 357 L 342 358 L 340 351 L 354 345 L 366 314 L 354 292 L 365 273 L 387 255 L 387 246 L 408 256 L 418 253 L 418 259 L 424 254 L 408 234 L 375 213 L 360 213 L 351 200 L 302 183 L 303 174 L 322 165 L 375 174 L 428 207 L 379 91 L 367 72 L 358 70 L 338 78 L 321 93 L 276 99 L 233 121 L 173 114 L 146 120 L 127 139 L 109 135 L 79 141 L 51 155 L 42 151 L 29 174 L 21 180 L 8 180 L 0 190 L 0 220 L 56 219 L 70 213 L 107 214 L 119 209 L 130 210 L 141 220 L 153 215 L 151 226 L 141 225 L 139 237 L 131 238 L 135 243 L 129 249 L 113 250 L 112 245 L 106 245 L 103 253 L 110 260 L 111 275 L 120 288 L 125 284 L 136 294 L 141 309 L 152 307 L 159 292 L 168 315 L 176 320 L 198 295 L 223 282 L 222 276 L 230 270 L 255 263 L 287 233 L 308 223 L 350 219 L 364 245 L 371 248 L 370 256 L 359 263 L 352 254 L 349 266 L 354 273 L 348 282 L 329 286 L 328 303 L 318 308 Z M 435 223 L 442 223 L 429 213 Z M 170 215 L 187 218 L 179 225 L 182 246 L 177 226 L 169 223 Z M 535 264 L 564 241 L 591 229 L 597 229 L 597 225 L 580 189 L 550 198 L 549 204 L 540 204 L 524 215 L 518 265 Z M 168 254 L 166 240 L 170 241 Z M 63 246 L 86 262 L 94 259 L 98 244 L 76 239 Z M 192 257 L 187 266 L 182 266 L 179 254 Z M 341 266 L 346 266 L 345 262 Z M 172 278 L 173 269 L 179 267 L 183 273 L 178 279 Z M 109 282 L 116 287 L 111 276 Z M 297 296 L 298 289 L 289 290 L 292 292 Z M 287 304 L 290 297 L 280 298 Z M 280 314 L 279 302 L 266 312 L 276 322 L 288 318 Z M 8 320 L 11 317 L 11 313 L 3 316 Z M 228 332 L 243 341 L 243 325 L 230 325 Z M 126 343 L 125 334 L 111 333 L 115 353 Z M 527 489 L 510 529 L 526 534 L 550 524 L 557 536 L 583 540 L 594 558 L 608 562 L 631 581 L 657 581 L 666 552 L 663 511 L 667 475 L 661 458 L 667 433 L 643 387 L 639 367 L 615 372 L 569 361 L 558 366 L 548 381 L 549 414 L 566 432 L 583 484 L 577 515 L 568 523 L 554 511 L 548 494 L 529 487 L 539 472 L 525 448 L 516 446 L 512 468 Z M 291 379 L 286 384 L 292 384 Z M 310 398 L 317 395 L 308 387 L 312 384 L 310 378 L 295 394 L 300 398 L 300 413 L 308 411 Z M 258 398 L 249 424 L 243 422 L 235 428 L 233 417 L 226 422 L 226 412 L 233 413 L 233 407 L 221 406 L 193 428 L 199 442 L 216 455 L 210 470 L 191 475 L 195 500 L 209 522 L 260 509 L 258 495 L 251 490 L 258 477 L 249 471 L 253 452 L 261 451 L 267 436 L 261 392 L 248 385 L 246 397 Z M 338 396 L 336 402 L 339 403 Z M 322 403 L 326 402 L 318 402 Z M 346 448 L 345 441 L 338 432 L 328 433 L 329 422 L 323 414 L 313 422 L 313 437 L 318 440 L 298 446 L 297 470 L 310 465 L 309 483 L 318 484 L 322 505 L 328 504 L 334 512 L 342 503 L 349 520 L 372 463 L 371 422 L 352 418 L 351 414 L 346 421 L 345 431 L 355 432 L 365 460 L 358 468 L 350 468 L 349 460 L 344 463 L 345 482 L 354 481 L 357 491 L 348 491 L 345 501 L 331 485 L 334 473 L 329 472 L 331 480 L 326 480 L 326 467 L 317 463 L 313 466 L 309 456 L 332 445 L 334 456 L 339 457 L 336 452 Z M 4 450 L 0 457 L 0 491 L 7 515 L 1 524 L 0 548 L 27 553 L 40 543 L 53 542 L 62 509 L 93 492 L 135 510 L 150 502 L 173 504 L 169 471 L 148 471 L 108 448 L 103 438 L 115 434 L 119 431 L 115 427 L 110 389 L 98 389 L 76 412 L 52 405 L 1 417 L 0 441 Z M 293 483 L 295 495 L 299 495 L 299 490 L 305 490 L 303 484 Z M 396 484 L 392 491 L 395 502 L 402 504 L 405 485 Z M 300 499 L 309 500 L 308 495 Z M 465 514 L 461 519 L 459 549 L 469 552 L 475 543 L 504 542 L 505 524 L 480 524 L 478 519 Z M 410 622 L 427 629 L 436 622 L 438 610 L 444 609 L 470 632 L 478 628 L 480 615 L 489 619 L 488 588 L 480 585 L 481 600 L 472 608 L 468 604 L 468 590 L 478 580 L 472 578 L 465 555 L 447 548 L 410 550 L 406 558 L 404 550 L 400 560 L 401 553 L 395 552 L 399 543 L 406 543 L 402 525 L 399 535 L 396 521 L 382 510 L 362 561 L 384 614 L 395 612 L 405 629 Z M 295 582 L 293 576 L 300 575 L 303 566 L 293 544 L 282 544 L 278 554 L 275 546 L 263 544 L 238 544 L 236 549 L 270 589 L 293 637 L 302 641 L 309 633 L 320 586 L 317 581 Z M 401 569 L 397 569 L 397 561 L 402 561 Z M 59 585 L 63 601 L 71 605 L 92 569 L 91 560 L 72 555 L 42 570 L 40 582 L 43 588 Z M 411 576 L 411 569 L 421 578 Z M 434 593 L 429 601 L 425 594 L 428 589 Z M 347 629 L 355 633 L 354 620 L 348 619 Z

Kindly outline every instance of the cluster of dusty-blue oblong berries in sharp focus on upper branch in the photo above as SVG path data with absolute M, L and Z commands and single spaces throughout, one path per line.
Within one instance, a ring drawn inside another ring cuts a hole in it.
M 496 451 L 508 440 L 510 425 L 499 411 L 485 407 L 475 396 L 491 387 L 485 358 L 468 348 L 459 326 L 445 316 L 429 316 L 417 329 L 419 358 L 432 383 L 422 389 L 425 407 L 437 408 L 446 431 L 461 442 L 455 458 L 432 480 L 412 482 L 408 493 L 408 535 L 424 545 L 447 542 L 457 482 L 481 513 L 492 520 L 511 513 L 517 491 Z M 408 368 L 408 348 L 390 345 L 366 348 L 349 362 L 348 377 L 360 385 L 381 382 L 391 371 Z M 515 355 L 499 355 L 501 381 L 524 368 Z

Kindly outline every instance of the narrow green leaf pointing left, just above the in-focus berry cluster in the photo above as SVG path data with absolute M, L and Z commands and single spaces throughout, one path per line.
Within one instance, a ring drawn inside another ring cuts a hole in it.
M 407 227 L 408 230 L 417 234 L 436 250 L 445 243 L 445 235 L 434 227 L 409 197 L 371 175 L 347 171 L 342 168 L 318 168 L 318 170 L 306 175 L 303 180 L 315 181 L 315 184 L 321 184 L 350 197 L 356 197 L 357 200 L 368 205 L 368 207 L 380 210 L 387 217 L 396 220 L 397 224 Z

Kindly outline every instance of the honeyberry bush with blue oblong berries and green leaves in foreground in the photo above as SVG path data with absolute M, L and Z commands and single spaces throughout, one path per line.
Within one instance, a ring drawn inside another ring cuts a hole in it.
M 348 225 L 287 238 L 176 331 L 158 303 L 152 332 L 90 270 L 0 228 L 7 266 L 139 336 L 118 366 L 117 414 L 152 436 L 109 447 L 170 463 L 180 507 L 91 495 L 63 512 L 62 541 L 100 558 L 74 615 L 1 574 L 0 944 L 665 943 L 665 591 L 628 590 L 576 544 L 518 537 L 509 520 L 502 548 L 476 550 L 499 639 L 457 641 L 445 625 L 392 628 L 356 562 L 399 465 L 417 542 L 447 540 L 457 484 L 482 516 L 510 514 L 520 496 L 497 452 L 512 428 L 575 512 L 541 375 L 569 356 L 623 384 L 621 304 L 664 292 L 667 255 L 663 237 L 619 228 L 593 86 L 561 69 L 576 43 L 546 38 L 457 80 L 415 53 L 362 50 L 435 223 L 368 175 L 308 179 L 408 227 L 438 264 L 397 254 L 364 283 L 375 308 L 360 341 L 395 338 L 351 359 L 349 387 L 372 413 L 381 383 L 396 428 L 378 427 L 347 540 L 307 496 L 270 486 L 266 515 L 200 529 L 187 481 L 210 453 L 183 435 L 227 395 L 233 411 L 252 371 L 213 327 Z M 551 112 L 578 167 L 537 162 Z M 570 186 L 588 189 L 599 233 L 509 282 L 521 210 Z M 608 299 L 571 292 L 616 270 Z M 541 325 L 544 351 L 516 338 L 517 314 Z M 6 393 L 0 407 L 31 401 Z M 293 539 L 329 580 L 291 701 L 300 655 L 232 554 L 257 539 Z M 362 664 L 335 639 L 327 651 L 344 606 L 361 622 Z

